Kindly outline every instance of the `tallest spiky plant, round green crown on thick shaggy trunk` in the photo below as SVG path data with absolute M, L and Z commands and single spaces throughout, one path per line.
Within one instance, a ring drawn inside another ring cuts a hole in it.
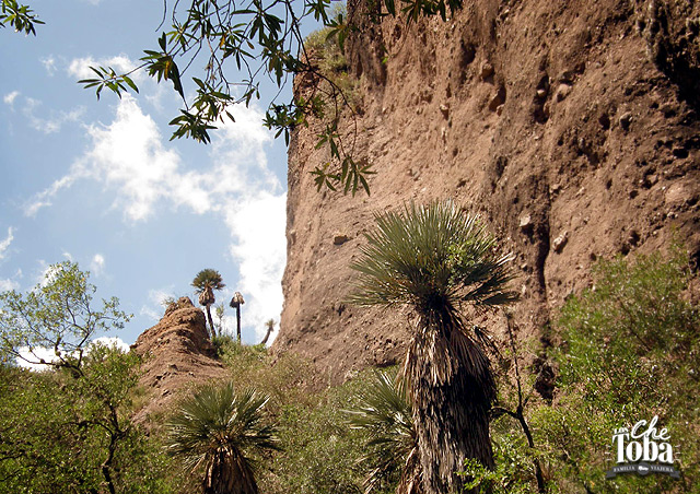
M 465 305 L 498 307 L 508 290 L 510 256 L 475 217 L 452 202 L 376 216 L 377 230 L 352 268 L 352 302 L 408 305 L 417 314 L 402 376 L 409 386 L 425 494 L 459 492 L 465 458 L 493 467 L 488 412 L 495 385 L 483 334 L 470 331 Z

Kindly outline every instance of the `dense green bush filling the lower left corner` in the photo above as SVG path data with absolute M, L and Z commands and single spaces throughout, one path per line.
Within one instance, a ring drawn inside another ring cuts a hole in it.
M 168 459 L 128 419 L 138 360 L 94 346 L 79 369 L 0 367 L 0 493 L 172 493 Z

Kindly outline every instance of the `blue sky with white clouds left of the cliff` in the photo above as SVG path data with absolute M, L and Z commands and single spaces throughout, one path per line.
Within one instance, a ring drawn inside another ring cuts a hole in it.
M 97 102 L 77 84 L 91 64 L 128 70 L 154 48 L 162 2 L 31 5 L 46 22 L 36 37 L 0 30 L 0 290 L 26 291 L 49 264 L 77 261 L 98 296 L 133 314 L 109 334 L 132 343 L 163 298 L 192 297 L 195 274 L 214 268 L 228 285 L 217 302 L 228 308 L 242 292 L 243 339 L 258 341 L 279 321 L 287 246 L 285 148 L 260 122 L 273 87 L 234 108 L 211 144 L 170 141 L 180 106 L 170 85 L 140 73 L 140 94 Z

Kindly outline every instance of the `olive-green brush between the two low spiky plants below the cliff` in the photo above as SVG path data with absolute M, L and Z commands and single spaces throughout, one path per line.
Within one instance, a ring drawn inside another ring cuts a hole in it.
M 221 361 L 234 383 L 268 393 L 280 452 L 257 462 L 260 492 L 360 494 L 366 472 L 358 464 L 364 436 L 350 428 L 346 409 L 366 386 L 364 374 L 343 386 L 317 390 L 312 364 L 291 354 L 272 358 L 264 346 L 222 339 Z

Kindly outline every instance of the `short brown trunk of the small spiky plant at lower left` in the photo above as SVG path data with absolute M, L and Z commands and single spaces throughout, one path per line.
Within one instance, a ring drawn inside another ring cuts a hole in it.
M 240 451 L 223 449 L 213 455 L 202 482 L 205 494 L 258 494 L 253 470 Z

